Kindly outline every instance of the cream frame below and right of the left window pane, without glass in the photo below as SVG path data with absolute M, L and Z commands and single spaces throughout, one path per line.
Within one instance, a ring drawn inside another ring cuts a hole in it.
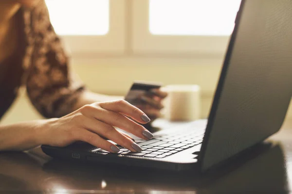
M 110 25 L 104 35 L 59 35 L 74 58 L 123 54 L 126 48 L 126 1 L 109 0 Z

